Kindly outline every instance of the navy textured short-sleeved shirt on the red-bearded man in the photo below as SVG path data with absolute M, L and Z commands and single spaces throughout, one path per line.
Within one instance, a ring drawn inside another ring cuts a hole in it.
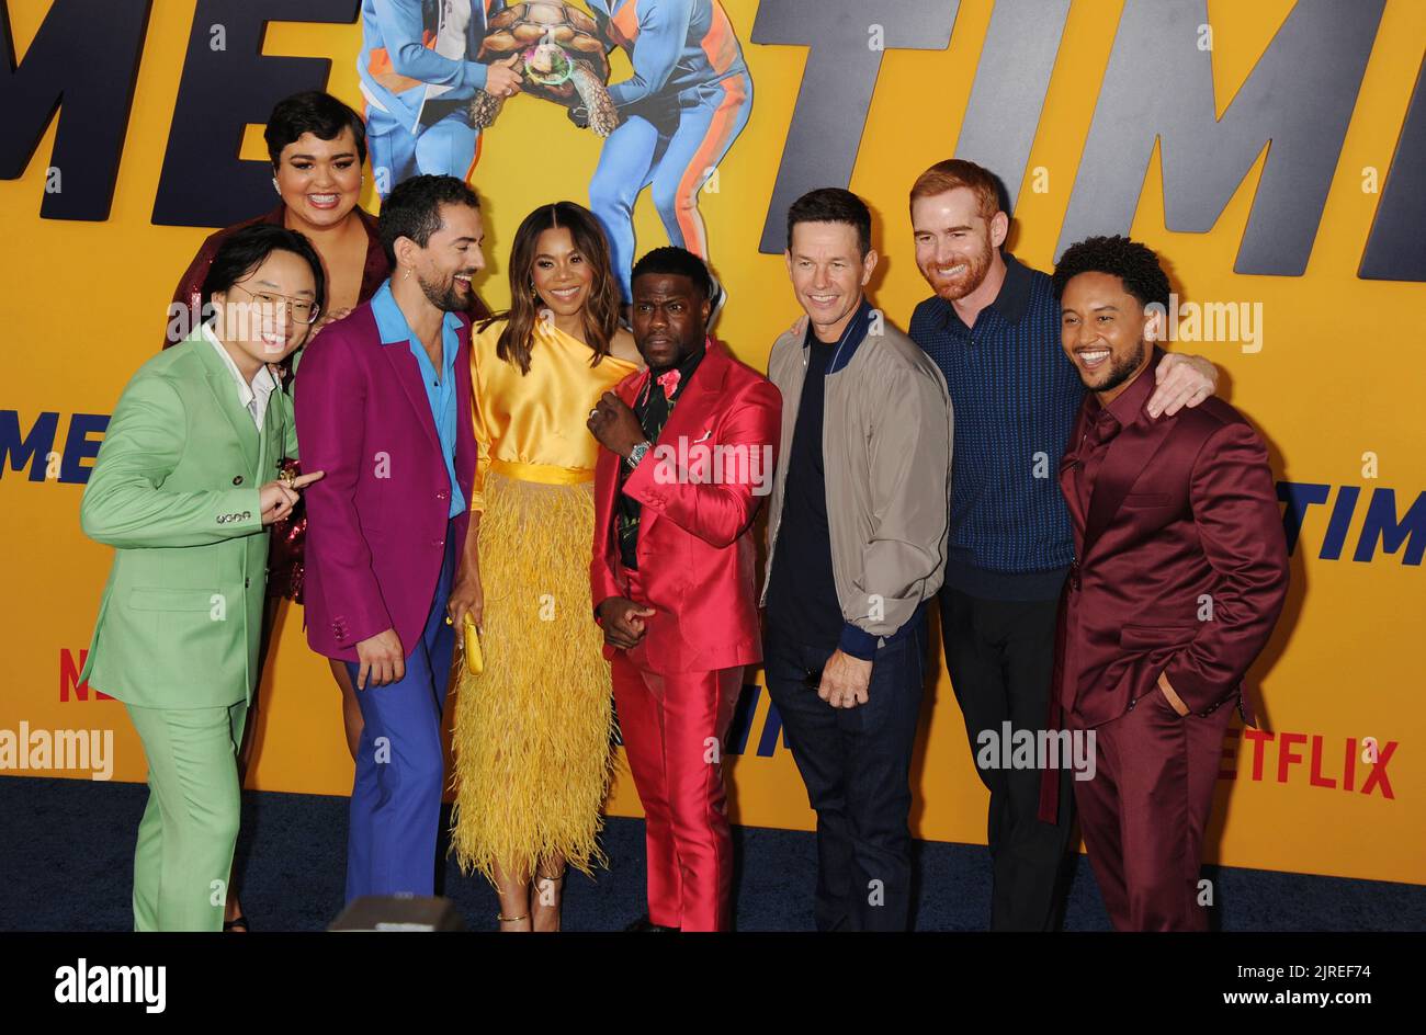
M 1057 475 L 1084 386 L 1060 345 L 1050 277 L 1007 254 L 1005 282 L 974 328 L 928 298 L 910 334 L 955 412 L 945 585 L 991 600 L 1058 596 L 1074 535 Z

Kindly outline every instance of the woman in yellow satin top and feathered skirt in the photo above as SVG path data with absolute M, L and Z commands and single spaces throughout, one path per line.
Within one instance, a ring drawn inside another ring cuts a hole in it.
M 495 885 L 502 931 L 558 931 L 565 865 L 607 865 L 597 834 L 613 764 L 589 602 L 599 443 L 585 422 L 643 361 L 589 210 L 530 212 L 509 271 L 511 309 L 471 349 L 483 670 L 459 666 L 452 851 Z

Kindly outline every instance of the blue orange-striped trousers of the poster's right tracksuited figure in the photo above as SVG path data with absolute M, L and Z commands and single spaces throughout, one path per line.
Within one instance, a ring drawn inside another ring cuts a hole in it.
M 753 110 L 753 80 L 730 76 L 689 87 L 674 97 L 632 107 L 605 140 L 589 181 L 589 208 L 609 237 L 612 264 L 625 301 L 633 301 L 633 205 L 652 184 L 669 242 L 707 258 L 699 191 L 737 140 Z

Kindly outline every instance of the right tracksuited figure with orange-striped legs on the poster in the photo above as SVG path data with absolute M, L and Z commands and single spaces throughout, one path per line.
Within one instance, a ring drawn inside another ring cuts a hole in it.
M 586 0 L 629 54 L 633 77 L 609 87 L 620 124 L 605 140 L 589 207 L 605 227 L 629 301 L 633 205 L 645 187 L 672 244 L 707 258 L 697 195 L 753 108 L 753 78 L 717 0 Z

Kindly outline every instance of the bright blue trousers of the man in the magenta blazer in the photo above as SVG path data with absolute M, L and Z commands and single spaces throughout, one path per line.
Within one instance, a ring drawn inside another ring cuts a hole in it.
M 431 613 L 421 640 L 396 683 L 356 691 L 365 727 L 356 750 L 351 825 L 347 834 L 347 901 L 362 895 L 435 890 L 436 827 L 445 757 L 441 711 L 455 632 L 445 623 L 455 573 L 455 525 L 446 526 L 446 550 Z M 402 644 L 405 646 L 405 644 Z M 352 686 L 361 666 L 348 661 Z

